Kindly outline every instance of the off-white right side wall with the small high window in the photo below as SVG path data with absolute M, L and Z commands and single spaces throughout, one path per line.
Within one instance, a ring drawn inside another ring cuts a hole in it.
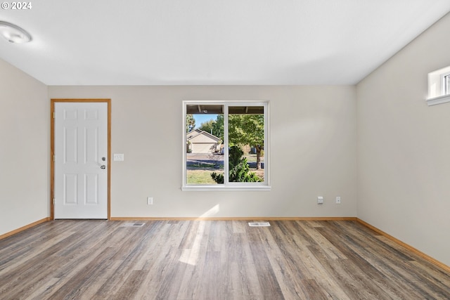
M 450 103 L 428 72 L 450 65 L 450 15 L 357 85 L 358 217 L 450 266 Z

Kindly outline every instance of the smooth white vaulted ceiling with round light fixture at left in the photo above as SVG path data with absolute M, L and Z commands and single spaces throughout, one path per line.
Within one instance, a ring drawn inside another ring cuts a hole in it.
M 356 84 L 449 0 L 39 0 L 0 58 L 47 85 Z

